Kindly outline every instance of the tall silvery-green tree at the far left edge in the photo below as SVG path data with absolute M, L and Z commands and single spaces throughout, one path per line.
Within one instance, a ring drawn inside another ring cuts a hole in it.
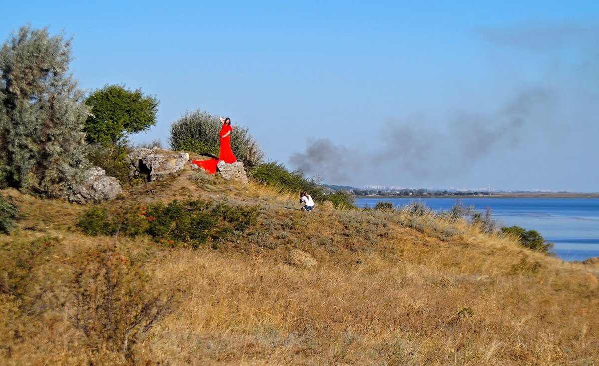
M 68 73 L 71 40 L 24 26 L 0 50 L 0 181 L 24 192 L 63 196 L 87 161 L 88 108 Z

